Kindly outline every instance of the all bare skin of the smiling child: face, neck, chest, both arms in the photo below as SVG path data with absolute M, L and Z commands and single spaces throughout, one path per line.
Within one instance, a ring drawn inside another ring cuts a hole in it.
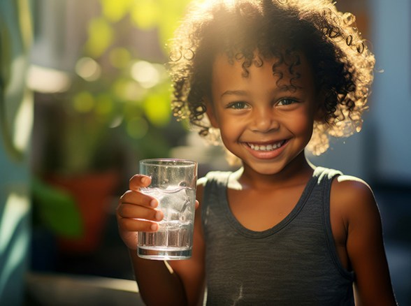
M 287 66 L 280 66 L 283 78 L 277 82 L 271 68 L 275 58 L 251 66 L 247 78 L 240 62 L 230 64 L 222 54 L 213 65 L 207 115 L 220 129 L 226 148 L 243 162 L 231 175 L 227 198 L 236 219 L 252 231 L 264 231 L 287 217 L 312 177 L 304 148 L 315 119 L 322 119 L 322 100 L 308 61 L 300 57 L 295 72 L 301 76 L 292 81 L 295 90 L 284 87 L 292 77 Z M 196 191 L 200 202 L 202 182 Z M 201 210 L 196 210 L 192 258 L 166 265 L 136 254 L 136 233 L 157 231 L 163 218 L 157 200 L 139 192 L 149 184 L 150 177 L 131 177 L 117 207 L 120 236 L 129 248 L 141 296 L 147 305 L 199 305 L 206 282 Z M 347 175 L 333 180 L 330 218 L 338 260 L 356 275 L 356 305 L 395 305 L 380 214 L 368 185 Z

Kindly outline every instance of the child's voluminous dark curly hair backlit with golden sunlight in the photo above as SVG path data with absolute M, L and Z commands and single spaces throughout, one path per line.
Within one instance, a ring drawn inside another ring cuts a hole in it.
M 219 0 L 194 4 L 170 45 L 168 69 L 173 80 L 173 115 L 212 143 L 205 97 L 210 96 L 212 63 L 224 52 L 242 61 L 244 75 L 252 64 L 275 58 L 290 73 L 299 64 L 296 51 L 310 62 L 318 92 L 324 96 L 323 118 L 315 121 L 308 150 L 324 153 L 329 136 L 359 132 L 373 82 L 375 59 L 355 27 L 351 13 L 339 12 L 329 0 Z M 256 57 L 255 50 L 260 56 Z M 281 75 L 280 75 L 281 78 Z M 298 78 L 298 73 L 296 75 Z

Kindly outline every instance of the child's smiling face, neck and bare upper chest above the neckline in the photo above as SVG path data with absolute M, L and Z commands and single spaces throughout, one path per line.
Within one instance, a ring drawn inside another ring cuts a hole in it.
M 231 64 L 224 54 L 213 65 L 207 114 L 226 149 L 243 163 L 231 177 L 229 203 L 238 221 L 254 231 L 284 219 L 312 176 L 304 148 L 320 101 L 308 61 L 297 55 L 301 64 L 294 75 L 286 64 L 276 68 L 281 79 L 273 73 L 275 58 L 250 66 L 246 77 L 242 62 Z

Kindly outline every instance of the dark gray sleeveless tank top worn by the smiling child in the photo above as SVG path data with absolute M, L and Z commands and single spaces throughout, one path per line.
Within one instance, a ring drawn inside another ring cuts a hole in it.
M 318 167 L 294 209 L 266 231 L 231 213 L 228 172 L 207 175 L 201 215 L 207 305 L 354 305 L 354 273 L 341 265 L 331 232 L 331 181 Z

